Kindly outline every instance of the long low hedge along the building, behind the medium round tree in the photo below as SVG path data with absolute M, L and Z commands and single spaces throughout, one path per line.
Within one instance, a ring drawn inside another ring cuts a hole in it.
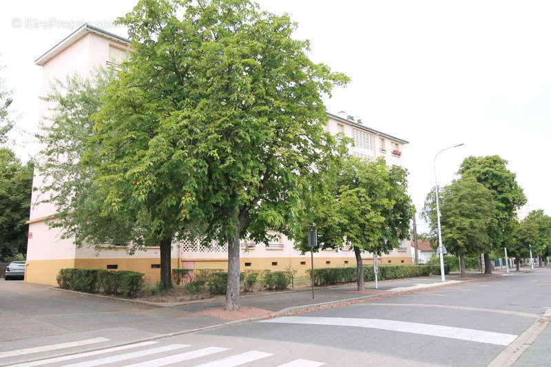
M 320 268 L 314 269 L 314 284 L 316 286 L 334 285 L 340 283 L 351 283 L 357 280 L 357 268 L 349 266 L 346 268 Z M 444 273 L 448 273 L 448 267 L 444 266 Z M 311 270 L 309 276 L 311 277 Z M 439 265 L 380 265 L 378 280 L 400 279 L 403 277 L 419 277 L 426 275 L 439 275 Z M 375 273 L 373 265 L 364 265 L 364 280 L 373 282 Z

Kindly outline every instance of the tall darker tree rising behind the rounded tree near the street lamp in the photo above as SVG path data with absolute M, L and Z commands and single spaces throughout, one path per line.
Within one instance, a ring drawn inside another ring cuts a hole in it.
M 458 174 L 462 178 L 472 177 L 490 190 L 494 200 L 494 225 L 490 227 L 490 249 L 484 253 L 487 264 L 485 273 L 491 274 L 491 249 L 501 249 L 510 242 L 512 237 L 512 222 L 516 221 L 516 212 L 526 204 L 526 196 L 519 187 L 516 175 L 506 167 L 507 160 L 499 156 L 484 156 L 465 158 Z

